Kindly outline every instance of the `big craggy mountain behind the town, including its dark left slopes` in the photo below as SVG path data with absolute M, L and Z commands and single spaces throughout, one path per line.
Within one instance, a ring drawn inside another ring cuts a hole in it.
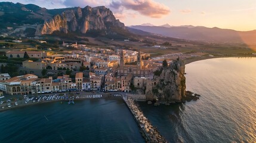
M 116 20 L 112 11 L 106 7 L 75 7 L 47 10 L 37 5 L 13 2 L 0 2 L 0 30 L 9 33 L 24 33 L 27 28 L 35 29 L 35 35 L 58 32 L 87 33 L 92 31 L 122 33 L 124 23 Z M 13 32 L 10 32 L 11 27 Z M 30 30 L 31 31 L 31 30 Z

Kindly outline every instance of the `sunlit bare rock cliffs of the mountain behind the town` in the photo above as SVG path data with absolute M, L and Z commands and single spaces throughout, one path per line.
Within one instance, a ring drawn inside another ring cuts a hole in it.
M 41 35 L 51 34 L 54 31 L 87 33 L 88 30 L 107 30 L 110 26 L 125 29 L 124 23 L 116 20 L 108 8 L 87 6 L 55 15 L 51 20 L 45 21 L 42 29 L 37 33 Z

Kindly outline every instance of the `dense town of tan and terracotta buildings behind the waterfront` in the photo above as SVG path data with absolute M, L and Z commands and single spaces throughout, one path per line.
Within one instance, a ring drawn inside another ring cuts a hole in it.
M 63 46 L 69 45 L 63 42 Z M 0 90 L 8 95 L 70 91 L 140 91 L 144 94 L 147 82 L 151 85 L 154 72 L 162 67 L 162 60 L 145 60 L 150 55 L 140 51 L 86 48 L 77 43 L 71 46 L 77 50 L 70 54 L 8 51 L 8 58 L 38 60 L 22 62 L 20 69 L 27 74 L 11 77 L 8 73 L 1 73 Z M 44 75 L 41 72 L 36 74 L 36 71 L 42 70 L 45 70 Z

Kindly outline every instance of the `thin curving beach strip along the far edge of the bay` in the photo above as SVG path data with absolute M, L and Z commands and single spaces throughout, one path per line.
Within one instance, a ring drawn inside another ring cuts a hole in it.
M 249 56 L 245 56 L 245 55 L 221 55 L 221 56 L 214 56 L 214 57 L 195 57 L 195 58 L 190 58 L 190 59 L 185 59 L 184 64 L 190 64 L 193 63 L 195 61 L 202 61 L 202 60 L 208 60 L 208 59 L 212 59 L 212 58 L 255 58 L 256 55 L 249 55 Z

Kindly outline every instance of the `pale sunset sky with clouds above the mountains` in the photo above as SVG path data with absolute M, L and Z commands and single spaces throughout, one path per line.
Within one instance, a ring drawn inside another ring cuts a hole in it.
M 2 2 L 2 0 L 0 0 Z M 151 23 L 160 26 L 193 25 L 240 31 L 256 29 L 255 0 L 11 0 L 48 9 L 97 7 L 113 11 L 125 26 Z

